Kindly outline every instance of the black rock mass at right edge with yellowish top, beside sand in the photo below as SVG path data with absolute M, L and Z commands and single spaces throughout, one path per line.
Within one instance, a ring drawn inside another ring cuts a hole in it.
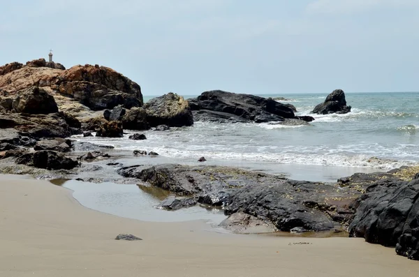
M 418 167 L 402 167 L 339 179 L 341 186 L 367 186 L 365 194 L 353 203 L 356 212 L 348 227 L 350 236 L 364 237 L 372 244 L 396 246 L 397 254 L 419 260 L 417 172 Z

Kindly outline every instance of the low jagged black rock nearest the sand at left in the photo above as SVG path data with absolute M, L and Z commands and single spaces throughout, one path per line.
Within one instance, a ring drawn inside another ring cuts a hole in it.
M 47 170 L 71 170 L 78 166 L 78 162 L 71 158 L 66 158 L 64 154 L 42 150 L 35 153 L 28 153 L 16 159 L 18 165 L 29 165 Z

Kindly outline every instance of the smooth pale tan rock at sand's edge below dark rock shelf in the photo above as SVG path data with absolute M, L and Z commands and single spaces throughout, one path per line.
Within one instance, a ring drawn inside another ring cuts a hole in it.
M 232 214 L 221 221 L 219 226 L 236 234 L 263 234 L 276 231 L 271 223 L 265 223 L 260 218 L 242 212 Z

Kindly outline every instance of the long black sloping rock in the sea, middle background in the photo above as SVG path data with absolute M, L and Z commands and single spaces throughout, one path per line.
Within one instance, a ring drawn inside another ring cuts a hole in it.
M 189 102 L 196 121 L 262 123 L 298 119 L 292 107 L 250 94 L 205 91 Z

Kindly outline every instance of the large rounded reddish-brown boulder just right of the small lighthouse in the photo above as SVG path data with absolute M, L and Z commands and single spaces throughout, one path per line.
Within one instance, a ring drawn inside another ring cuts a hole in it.
M 140 107 L 142 94 L 138 84 L 105 66 L 73 66 L 62 71 L 52 86 L 92 110 Z

